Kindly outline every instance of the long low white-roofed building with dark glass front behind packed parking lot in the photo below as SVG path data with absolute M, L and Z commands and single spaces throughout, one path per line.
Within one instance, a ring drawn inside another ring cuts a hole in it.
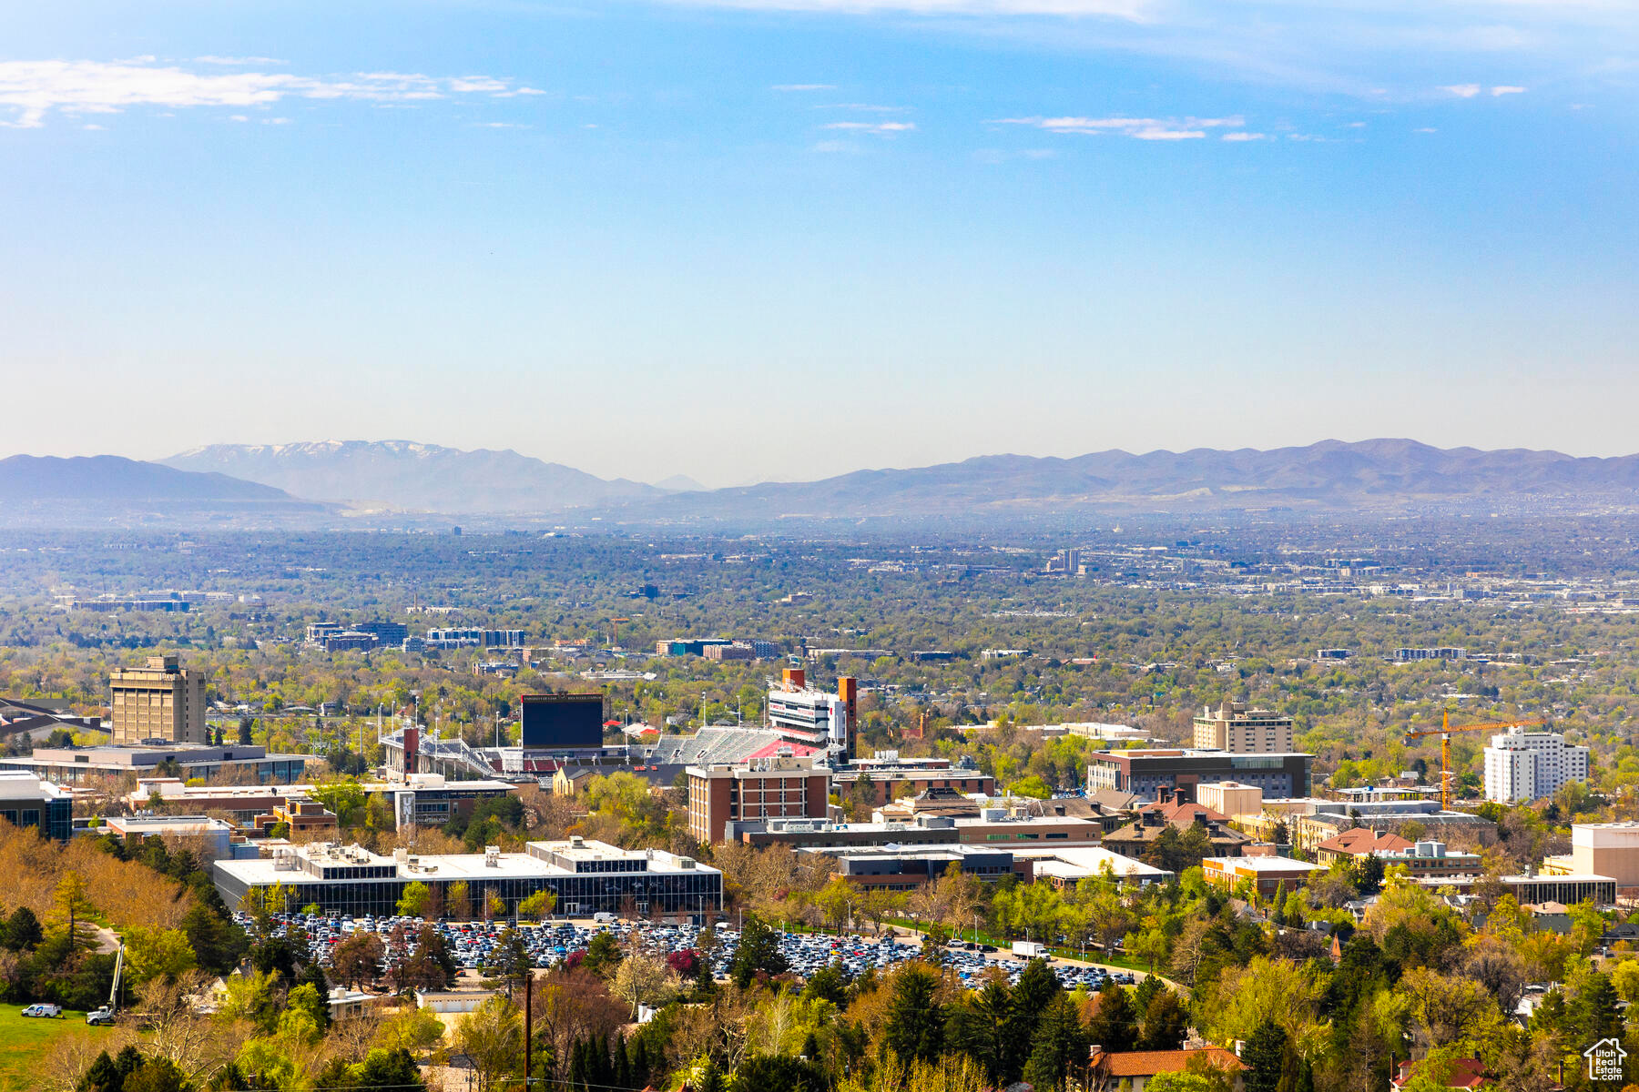
M 393 856 L 362 846 L 315 842 L 280 846 L 272 858 L 216 861 L 216 891 L 229 907 L 279 887 L 290 909 L 318 904 L 326 914 L 397 912 L 405 887 L 431 889 L 451 917 L 505 918 L 529 896 L 551 891 L 556 912 L 683 917 L 700 925 L 723 905 L 723 873 L 662 850 L 621 850 L 579 837 L 529 842 L 524 853 Z M 465 900 L 461 904 L 461 900 Z

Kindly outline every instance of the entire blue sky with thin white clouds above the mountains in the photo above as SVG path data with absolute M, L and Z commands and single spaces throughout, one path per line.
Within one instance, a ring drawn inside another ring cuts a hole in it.
M 8 5 L 0 447 L 1626 453 L 1636 90 L 1616 2 Z

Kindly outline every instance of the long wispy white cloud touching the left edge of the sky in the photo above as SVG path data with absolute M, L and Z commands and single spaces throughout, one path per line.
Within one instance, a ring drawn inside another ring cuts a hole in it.
M 285 98 L 415 103 L 452 95 L 513 98 L 543 92 L 495 77 L 431 77 L 359 72 L 344 77 L 290 72 L 193 72 L 175 64 L 131 61 L 3 61 L 0 108 L 10 128 L 33 129 L 62 111 L 120 113 L 133 106 L 270 106 Z

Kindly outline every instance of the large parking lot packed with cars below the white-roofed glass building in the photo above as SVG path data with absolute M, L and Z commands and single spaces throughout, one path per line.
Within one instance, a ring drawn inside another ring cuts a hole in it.
M 241 915 L 239 923 L 247 925 L 249 918 Z M 502 935 L 508 928 L 513 928 L 510 922 L 426 923 L 410 917 L 343 918 L 303 914 L 288 917 L 275 915 L 275 935 L 287 935 L 290 925 L 298 927 L 306 936 L 308 953 L 326 966 L 336 945 L 356 932 L 369 932 L 380 936 L 387 950 L 387 964 L 393 964 L 410 953 L 423 928 L 436 928 L 444 936 L 456 964 L 469 971 L 493 966 Z M 575 951 L 585 951 L 587 945 L 600 932 L 613 933 L 623 945 L 636 941 L 662 956 L 674 951 L 700 950 L 700 930 L 693 927 L 656 925 L 652 922 L 613 922 L 602 925 L 593 922 L 549 922 L 520 923 L 516 928 L 523 938 L 524 951 L 529 953 L 531 963 L 538 968 L 549 968 L 562 963 Z M 392 943 L 395 930 L 402 930 L 403 936 L 403 943 L 398 946 Z M 716 945 L 711 951 L 711 971 L 718 977 L 724 977 L 734 959 L 734 951 L 739 948 L 739 930 L 731 928 L 728 923 L 720 923 L 713 932 Z M 980 946 L 952 940 L 946 946 L 941 961 L 969 986 L 978 986 L 992 966 L 1001 968 L 1006 971 L 1010 981 L 1016 982 L 1019 971 L 1024 969 L 1024 959 L 1006 951 L 993 948 L 985 951 L 983 948 L 988 948 L 988 945 Z M 780 954 L 785 956 L 792 971 L 800 977 L 808 977 L 833 963 L 839 964 L 847 977 L 856 977 L 867 969 L 885 971 L 897 963 L 915 959 L 919 951 L 921 938 L 915 935 L 910 938 L 867 938 L 857 933 L 780 933 Z M 1065 989 L 1085 986 L 1096 990 L 1108 977 L 1115 977 L 1115 981 L 1123 984 L 1134 981 L 1134 976 L 1126 971 L 1106 972 L 1100 968 L 1062 959 L 1054 959 L 1052 969 Z

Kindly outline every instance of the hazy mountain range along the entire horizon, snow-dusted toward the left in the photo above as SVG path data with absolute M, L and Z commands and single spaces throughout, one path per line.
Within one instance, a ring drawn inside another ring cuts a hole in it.
M 0 508 L 7 511 L 116 503 L 229 516 L 306 512 L 343 526 L 369 512 L 760 522 L 1272 508 L 1639 511 L 1639 455 L 1578 458 L 1519 449 L 1437 449 L 1414 440 L 1324 440 L 1275 450 L 985 455 L 729 490 L 703 490 L 687 478 L 657 486 L 606 480 L 511 450 L 467 452 L 406 440 L 221 444 L 161 463 L 107 455 L 0 460 Z

